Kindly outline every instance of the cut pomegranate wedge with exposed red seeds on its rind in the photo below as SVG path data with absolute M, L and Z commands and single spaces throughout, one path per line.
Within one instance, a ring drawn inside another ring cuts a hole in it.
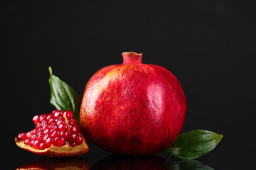
M 15 138 L 18 147 L 46 157 L 71 157 L 89 151 L 71 111 L 36 115 L 33 123 L 35 129 L 21 132 Z

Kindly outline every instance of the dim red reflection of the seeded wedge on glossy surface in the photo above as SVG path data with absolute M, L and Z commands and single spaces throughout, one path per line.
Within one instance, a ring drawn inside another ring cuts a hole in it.
M 85 159 L 70 157 L 58 159 L 39 159 L 35 162 L 19 166 L 17 169 L 89 169 L 90 165 Z

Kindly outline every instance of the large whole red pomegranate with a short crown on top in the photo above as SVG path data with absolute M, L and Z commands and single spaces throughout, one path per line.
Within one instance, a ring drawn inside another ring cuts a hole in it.
M 181 85 L 164 67 L 142 64 L 142 54 L 122 55 L 122 64 L 100 69 L 87 82 L 80 110 L 85 135 L 115 154 L 164 151 L 185 120 Z

